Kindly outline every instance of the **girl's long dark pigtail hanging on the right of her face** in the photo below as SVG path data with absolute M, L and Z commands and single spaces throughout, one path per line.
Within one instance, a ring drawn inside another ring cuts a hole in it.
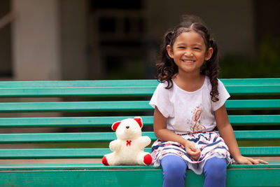
M 212 90 L 210 92 L 213 102 L 218 102 L 218 71 L 219 71 L 219 53 L 216 41 L 211 39 L 209 41 L 209 48 L 213 48 L 213 54 L 209 60 L 207 60 L 202 67 L 202 74 L 209 76 Z

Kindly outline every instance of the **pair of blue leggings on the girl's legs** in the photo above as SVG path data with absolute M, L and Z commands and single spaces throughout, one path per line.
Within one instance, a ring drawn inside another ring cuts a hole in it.
M 163 169 L 163 186 L 185 186 L 188 165 L 177 155 L 166 155 L 160 160 Z M 210 158 L 203 167 L 205 176 L 204 187 L 225 186 L 227 162 L 225 158 Z

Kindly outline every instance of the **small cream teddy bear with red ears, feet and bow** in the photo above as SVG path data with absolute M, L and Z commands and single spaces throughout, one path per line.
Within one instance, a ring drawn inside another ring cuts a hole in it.
M 152 157 L 144 148 L 151 143 L 147 136 L 141 136 L 142 118 L 127 118 L 113 123 L 117 139 L 109 144 L 113 153 L 104 155 L 104 165 L 151 165 Z

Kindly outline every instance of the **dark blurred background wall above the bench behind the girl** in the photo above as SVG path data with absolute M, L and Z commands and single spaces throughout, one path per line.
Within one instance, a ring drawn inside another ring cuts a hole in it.
M 199 15 L 221 78 L 279 77 L 280 1 L 1 0 L 0 80 L 154 78 L 163 34 Z

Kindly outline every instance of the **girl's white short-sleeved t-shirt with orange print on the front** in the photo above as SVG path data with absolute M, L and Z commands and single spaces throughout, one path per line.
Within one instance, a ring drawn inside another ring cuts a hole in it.
M 214 130 L 216 120 L 214 111 L 225 104 L 230 97 L 223 83 L 218 80 L 218 102 L 211 100 L 211 83 L 205 76 L 204 84 L 194 92 L 173 86 L 166 89 L 167 82 L 160 83 L 155 90 L 150 105 L 158 107 L 160 113 L 167 118 L 167 129 L 176 134 L 207 132 Z

